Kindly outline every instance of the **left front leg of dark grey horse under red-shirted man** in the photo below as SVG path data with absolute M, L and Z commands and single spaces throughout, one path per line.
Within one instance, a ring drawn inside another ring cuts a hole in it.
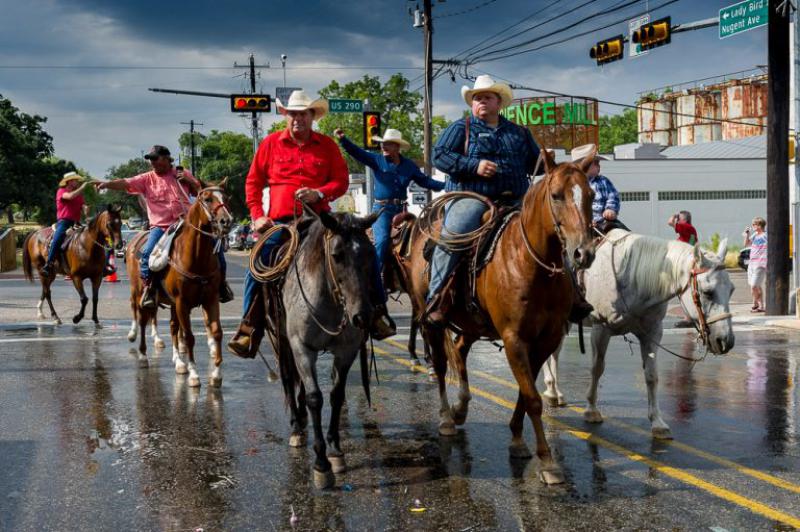
M 306 404 L 314 426 L 314 486 L 318 489 L 331 488 L 335 479 L 325 452 L 325 435 L 322 432 L 323 399 L 317 380 L 317 352 L 309 349 L 301 340 L 292 339 L 291 346 L 295 366 L 306 389 Z

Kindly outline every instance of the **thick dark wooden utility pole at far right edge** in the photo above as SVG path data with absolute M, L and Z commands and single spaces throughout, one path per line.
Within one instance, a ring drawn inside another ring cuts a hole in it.
M 776 315 L 789 311 L 789 10 L 785 0 L 769 0 L 767 41 L 766 311 Z

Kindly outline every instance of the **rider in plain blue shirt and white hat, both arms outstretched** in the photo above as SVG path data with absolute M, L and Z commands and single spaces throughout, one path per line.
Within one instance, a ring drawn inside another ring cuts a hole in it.
M 344 131 L 337 129 L 334 135 L 347 153 L 358 162 L 369 166 L 375 172 L 375 200 L 372 212 L 381 211 L 378 221 L 372 226 L 375 237 L 375 251 L 378 255 L 378 268 L 373 286 L 377 286 L 378 296 L 386 305 L 386 290 L 383 287 L 381 272 L 391 247 L 392 218 L 405 209 L 408 185 L 414 181 L 421 187 L 439 191 L 444 188 L 444 183 L 436 181 L 422 173 L 413 161 L 400 155 L 402 150 L 407 150 L 411 145 L 403 139 L 402 133 L 396 129 L 387 129 L 383 137 L 373 137 L 381 143 L 381 153 L 372 153 L 361 149 L 348 139 Z M 385 308 L 378 309 L 384 315 Z M 393 327 L 393 324 L 386 324 Z M 394 334 L 394 333 L 392 333 Z

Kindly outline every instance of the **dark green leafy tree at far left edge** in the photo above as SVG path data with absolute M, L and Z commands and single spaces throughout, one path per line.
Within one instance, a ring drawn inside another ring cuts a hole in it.
M 21 112 L 0 95 L 0 210 L 6 211 L 9 223 L 14 223 L 13 205 L 33 210 L 42 205 L 36 191 L 54 190 L 46 161 L 53 154 L 53 138 L 42 128 L 46 121 Z

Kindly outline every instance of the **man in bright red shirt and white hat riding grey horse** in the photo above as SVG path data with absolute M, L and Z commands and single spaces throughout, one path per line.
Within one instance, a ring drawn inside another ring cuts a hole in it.
M 338 145 L 311 127 L 314 120 L 328 112 L 328 102 L 312 101 L 304 91 L 294 91 L 285 106 L 280 100 L 276 105 L 286 116 L 286 129 L 261 141 L 245 181 L 247 206 L 253 231 L 257 233 L 300 217 L 300 202 L 310 204 L 317 212 L 329 211 L 330 202 L 347 192 L 349 184 L 347 164 Z M 265 187 L 269 187 L 267 213 L 263 207 Z M 262 247 L 261 257 L 265 263 L 279 242 L 280 233 L 276 233 Z M 228 343 L 228 349 L 236 355 L 254 356 L 263 336 L 263 312 L 255 308 L 260 305 L 254 305 L 260 289 L 260 283 L 248 271 L 244 281 L 244 318 Z

